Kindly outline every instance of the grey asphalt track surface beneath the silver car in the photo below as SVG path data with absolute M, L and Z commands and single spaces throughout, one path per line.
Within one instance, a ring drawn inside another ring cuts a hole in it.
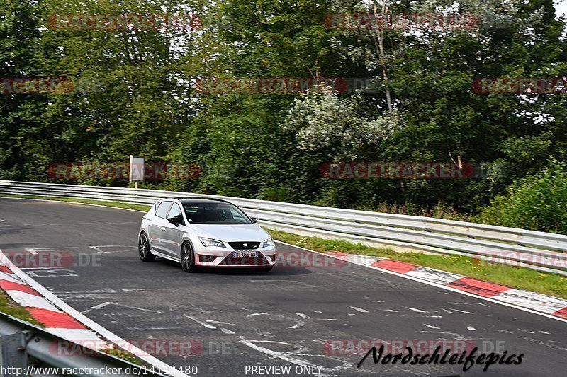
M 116 335 L 154 342 L 158 359 L 178 368 L 198 366 L 196 376 L 281 376 L 252 373 L 252 366 L 290 366 L 283 376 L 567 375 L 567 323 L 344 263 L 187 274 L 174 262 L 139 260 L 141 217 L 106 207 L 0 199 L 0 249 L 71 253 L 72 264 L 62 268 L 21 267 Z M 313 253 L 286 245 L 278 251 L 313 260 Z M 364 354 L 325 347 L 332 340 L 455 339 L 524 358 L 486 373 L 479 365 L 464 373 L 461 365 L 383 365 L 371 357 L 357 369 Z M 189 356 L 186 346 L 185 354 L 176 349 L 188 341 Z M 159 349 L 159 342 L 169 348 Z M 302 372 L 305 365 L 322 366 L 321 374 Z

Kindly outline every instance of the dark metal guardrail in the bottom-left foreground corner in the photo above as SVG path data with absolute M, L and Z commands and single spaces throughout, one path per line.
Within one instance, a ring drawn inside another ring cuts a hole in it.
M 82 377 L 164 377 L 143 366 L 80 344 L 73 345 L 72 353 L 57 352 L 59 342 L 71 343 L 38 326 L 0 312 L 0 376 L 21 377 L 32 371 L 33 376 L 53 376 L 54 369 L 58 368 L 60 376 L 71 375 L 63 373 L 63 369 L 66 369 L 76 372 L 74 376 Z M 28 369 L 30 366 L 35 368 Z

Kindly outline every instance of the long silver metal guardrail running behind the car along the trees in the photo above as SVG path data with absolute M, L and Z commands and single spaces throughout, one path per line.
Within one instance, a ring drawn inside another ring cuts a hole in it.
M 166 197 L 226 199 L 266 228 L 386 245 L 394 250 L 466 255 L 567 276 L 567 236 L 422 216 L 162 190 L 0 180 L 0 195 L 41 195 L 151 205 Z

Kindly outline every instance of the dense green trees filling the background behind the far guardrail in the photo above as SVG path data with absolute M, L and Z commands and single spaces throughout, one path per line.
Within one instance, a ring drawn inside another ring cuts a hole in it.
M 473 90 L 481 77 L 564 76 L 566 23 L 552 0 L 0 0 L 0 6 L 1 76 L 74 83 L 69 93 L 2 95 L 0 179 L 48 180 L 49 163 L 125 162 L 139 154 L 200 167 L 191 179 L 147 182 L 152 187 L 474 214 L 511 182 L 547 166 L 550 156 L 567 158 L 565 95 Z M 403 29 L 329 24 L 332 13 L 348 12 L 474 15 L 476 22 L 423 28 L 410 21 Z M 75 30 L 57 18 L 93 13 L 200 21 L 189 28 Z M 375 86 L 363 93 L 318 86 L 302 95 L 207 93 L 202 86 L 262 78 L 359 78 Z M 470 163 L 484 175 L 321 174 L 327 162 L 353 161 Z

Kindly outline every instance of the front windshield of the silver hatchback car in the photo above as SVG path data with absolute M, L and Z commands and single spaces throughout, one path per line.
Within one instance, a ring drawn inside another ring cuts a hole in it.
M 230 203 L 186 203 L 183 209 L 189 224 L 252 224 L 248 216 Z

